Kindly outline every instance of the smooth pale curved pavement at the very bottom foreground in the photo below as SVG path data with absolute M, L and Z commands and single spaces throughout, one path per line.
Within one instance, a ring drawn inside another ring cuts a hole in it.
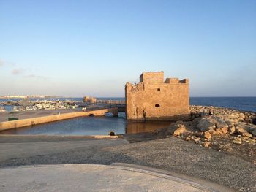
M 0 169 L 0 191 L 230 191 L 127 166 L 59 164 Z

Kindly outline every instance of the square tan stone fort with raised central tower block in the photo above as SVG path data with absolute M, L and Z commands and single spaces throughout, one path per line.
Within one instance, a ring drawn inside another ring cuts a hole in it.
M 140 82 L 125 85 L 127 120 L 188 120 L 189 80 L 164 72 L 143 72 Z

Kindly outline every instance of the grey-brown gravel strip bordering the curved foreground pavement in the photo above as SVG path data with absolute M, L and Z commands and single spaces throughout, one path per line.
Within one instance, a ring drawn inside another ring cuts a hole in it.
M 41 139 L 42 141 L 43 139 Z M 2 140 L 5 145 L 6 142 L 6 139 Z M 14 139 L 13 142 L 17 143 L 18 141 Z M 56 139 L 54 142 L 55 145 L 59 145 Z M 63 142 L 65 141 L 61 140 L 59 143 L 63 145 Z M 33 143 L 31 140 L 31 145 Z M 0 161 L 0 167 L 66 163 L 112 164 L 114 162 L 151 166 L 200 177 L 220 185 L 236 188 L 238 191 L 256 191 L 255 164 L 211 148 L 200 147 L 200 145 L 176 137 L 129 144 L 119 143 L 116 146 L 108 147 L 82 145 L 65 151 L 57 150 L 56 153 L 9 158 Z

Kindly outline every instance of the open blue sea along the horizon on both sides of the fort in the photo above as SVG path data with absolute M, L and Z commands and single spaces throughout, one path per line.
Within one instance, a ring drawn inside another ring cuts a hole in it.
M 83 98 L 54 98 L 48 100 L 66 100 L 83 101 Z M 101 100 L 120 100 L 124 101 L 124 97 L 100 97 Z M 12 101 L 18 101 L 20 99 L 12 99 Z M 37 99 L 31 99 L 37 100 Z M 7 99 L 0 99 L 1 101 L 7 101 Z M 214 107 L 227 107 L 236 110 L 252 111 L 256 112 L 256 97 L 190 97 L 191 105 L 203 105 Z

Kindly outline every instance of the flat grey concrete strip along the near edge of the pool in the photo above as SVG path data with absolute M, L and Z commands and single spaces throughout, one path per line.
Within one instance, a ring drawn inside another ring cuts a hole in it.
M 17 137 L 22 139 L 22 137 Z M 31 138 L 31 139 L 30 139 Z M 49 155 L 54 153 L 63 153 L 70 150 L 76 150 L 83 148 L 86 150 L 91 150 L 93 147 L 108 147 L 116 145 L 125 145 L 129 142 L 124 139 L 89 139 L 80 138 L 73 140 L 72 138 L 67 140 L 60 140 L 61 137 L 49 137 L 55 138 L 56 140 L 45 141 L 44 137 L 38 137 L 37 142 L 35 142 L 33 137 L 28 137 L 27 142 L 1 142 L 4 137 L 0 137 L 0 164 L 1 161 L 5 161 L 10 158 L 27 158 L 36 155 Z M 31 141 L 30 141 L 30 140 Z M 41 141 L 41 142 L 40 142 Z

